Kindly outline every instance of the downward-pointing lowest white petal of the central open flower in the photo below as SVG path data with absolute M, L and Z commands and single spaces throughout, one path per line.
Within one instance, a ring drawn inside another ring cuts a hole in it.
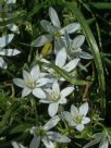
M 50 103 L 49 104 L 49 108 L 48 108 L 48 112 L 49 112 L 49 115 L 50 116 L 54 116 L 58 112 L 58 103 L 57 102 L 53 102 L 53 103 Z

